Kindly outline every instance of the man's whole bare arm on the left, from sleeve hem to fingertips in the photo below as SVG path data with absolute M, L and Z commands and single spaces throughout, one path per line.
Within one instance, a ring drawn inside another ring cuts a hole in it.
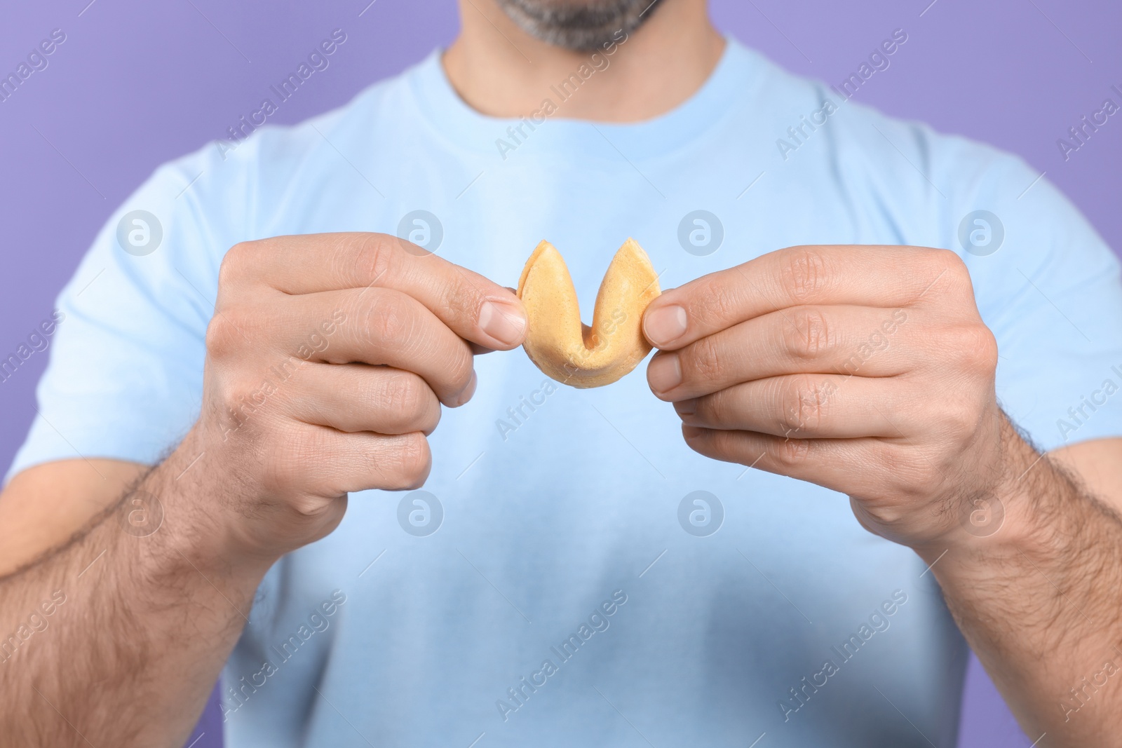
M 0 557 L 0 632 L 65 599 L 47 635 L 9 641 L 4 745 L 183 745 L 261 575 L 331 532 L 349 491 L 420 486 L 441 404 L 475 389 L 472 353 L 514 348 L 524 327 L 509 290 L 393 237 L 231 249 L 201 415 L 173 454 L 148 472 L 35 465 L 0 493 L 9 534 L 38 530 Z M 132 526 L 151 515 L 121 497 L 128 483 L 159 498 L 162 524 Z

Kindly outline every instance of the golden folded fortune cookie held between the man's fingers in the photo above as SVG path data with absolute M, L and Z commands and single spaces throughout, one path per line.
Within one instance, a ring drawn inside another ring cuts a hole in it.
M 569 268 L 553 244 L 543 241 L 518 279 L 528 321 L 523 348 L 539 369 L 564 385 L 610 385 L 651 352 L 643 311 L 660 293 L 646 252 L 628 239 L 600 283 L 592 325 L 582 324 Z

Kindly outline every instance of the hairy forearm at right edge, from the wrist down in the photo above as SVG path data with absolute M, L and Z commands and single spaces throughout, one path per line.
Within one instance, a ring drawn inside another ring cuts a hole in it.
M 1015 435 L 1006 443 L 1000 529 L 958 533 L 920 555 L 935 564 L 958 626 L 1032 740 L 1115 745 L 1122 520 Z

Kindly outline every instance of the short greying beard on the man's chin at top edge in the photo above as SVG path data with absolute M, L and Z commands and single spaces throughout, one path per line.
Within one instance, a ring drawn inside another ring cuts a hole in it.
M 661 0 L 497 1 L 522 30 L 573 52 L 599 49 L 620 30 L 631 34 L 661 4 Z

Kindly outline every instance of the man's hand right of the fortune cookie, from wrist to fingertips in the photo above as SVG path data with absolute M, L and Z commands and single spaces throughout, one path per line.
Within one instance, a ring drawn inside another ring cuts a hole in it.
M 938 542 L 1008 480 L 997 344 L 951 251 L 778 250 L 668 290 L 643 330 L 690 447 L 847 493 L 886 538 Z

